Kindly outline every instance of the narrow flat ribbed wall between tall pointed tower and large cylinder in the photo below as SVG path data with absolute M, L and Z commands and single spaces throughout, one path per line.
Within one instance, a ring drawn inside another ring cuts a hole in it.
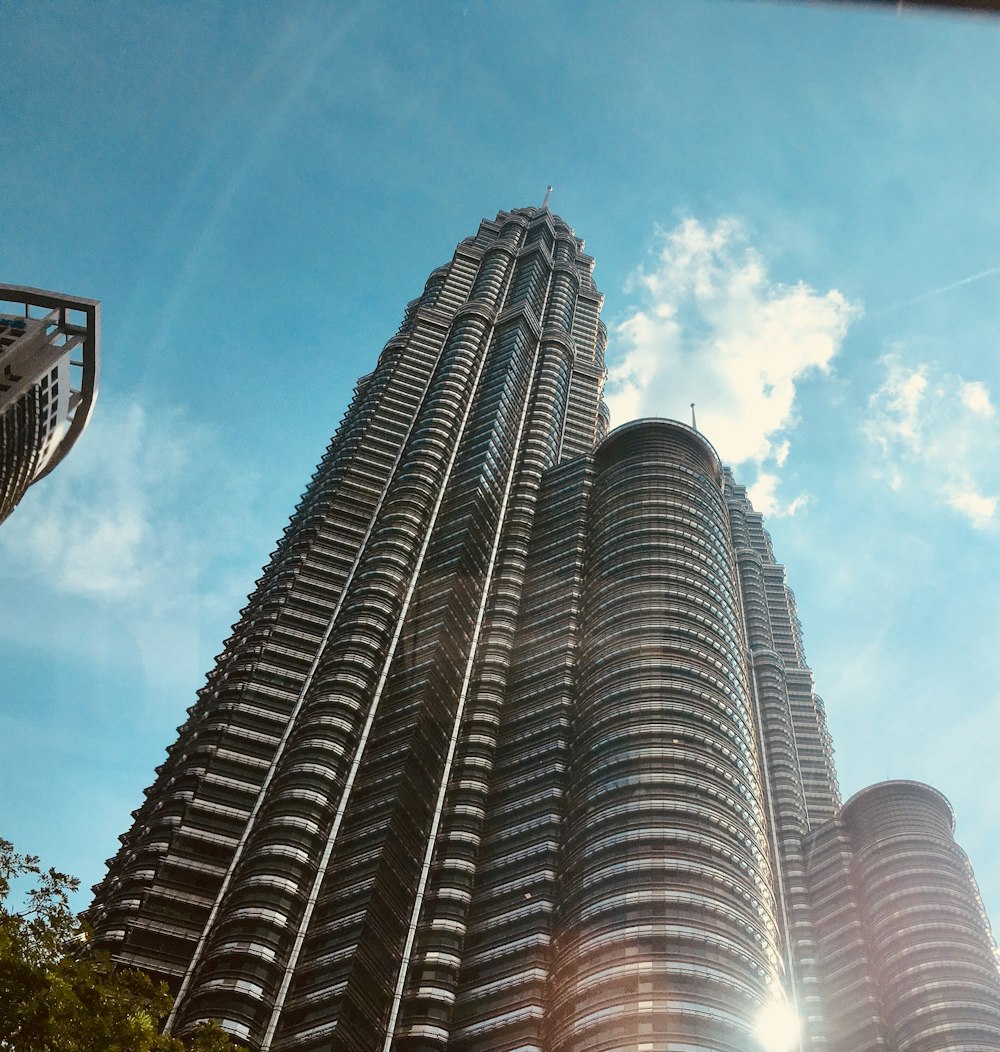
M 455 948 L 455 1052 L 547 1047 L 592 484 L 583 457 L 543 482 L 468 933 Z

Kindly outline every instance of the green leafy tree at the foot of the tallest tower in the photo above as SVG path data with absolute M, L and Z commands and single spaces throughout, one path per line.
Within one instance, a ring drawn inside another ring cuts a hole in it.
M 11 884 L 28 879 L 24 908 L 7 907 Z M 0 838 L 0 1050 L 2 1052 L 226 1052 L 215 1024 L 186 1041 L 161 1034 L 170 1009 L 163 983 L 117 971 L 95 953 L 69 908 L 80 882 L 42 871 L 35 855 Z

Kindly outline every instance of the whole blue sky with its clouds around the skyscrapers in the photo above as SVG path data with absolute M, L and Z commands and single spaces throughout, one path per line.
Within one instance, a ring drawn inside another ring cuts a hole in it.
M 1000 922 L 1000 19 L 8 0 L 3 35 L 0 274 L 100 299 L 104 360 L 0 529 L 0 835 L 100 877 L 354 380 L 551 182 L 614 422 L 697 402 L 844 796 L 941 789 Z

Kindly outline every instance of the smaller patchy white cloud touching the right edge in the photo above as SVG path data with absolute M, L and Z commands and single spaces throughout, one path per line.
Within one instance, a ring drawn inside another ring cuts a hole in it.
M 900 351 L 881 360 L 864 431 L 879 453 L 876 473 L 896 491 L 953 508 L 977 529 L 998 525 L 1000 425 L 988 386 Z

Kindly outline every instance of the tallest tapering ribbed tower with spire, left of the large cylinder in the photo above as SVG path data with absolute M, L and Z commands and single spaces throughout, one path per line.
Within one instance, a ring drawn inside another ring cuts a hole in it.
M 369 1049 L 434 1021 L 407 975 L 461 928 L 542 474 L 607 425 L 581 249 L 547 209 L 484 222 L 359 384 L 97 889 L 174 1032 Z

